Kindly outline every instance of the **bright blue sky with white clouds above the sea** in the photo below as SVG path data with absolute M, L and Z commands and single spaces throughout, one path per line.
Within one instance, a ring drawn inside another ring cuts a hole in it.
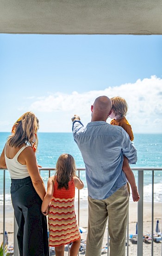
M 162 36 L 0 34 L 0 131 L 33 111 L 40 131 L 71 132 L 103 94 L 125 97 L 135 133 L 162 132 Z

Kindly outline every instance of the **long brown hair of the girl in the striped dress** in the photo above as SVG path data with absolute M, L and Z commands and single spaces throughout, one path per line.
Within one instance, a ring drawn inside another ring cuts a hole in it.
M 62 154 L 56 162 L 56 175 L 58 182 L 58 189 L 68 189 L 70 177 L 74 177 L 76 171 L 75 160 L 72 155 Z

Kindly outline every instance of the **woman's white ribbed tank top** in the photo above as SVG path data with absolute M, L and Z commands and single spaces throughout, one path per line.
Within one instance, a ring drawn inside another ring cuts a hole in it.
M 26 148 L 29 147 L 29 145 L 25 145 L 24 147 L 20 148 L 18 153 L 12 158 L 8 158 L 6 156 L 6 146 L 5 146 L 5 161 L 7 169 L 10 173 L 10 176 L 12 179 L 24 179 L 26 177 L 29 177 L 29 173 L 27 170 L 27 166 L 23 165 L 18 162 L 18 156 L 19 154 Z

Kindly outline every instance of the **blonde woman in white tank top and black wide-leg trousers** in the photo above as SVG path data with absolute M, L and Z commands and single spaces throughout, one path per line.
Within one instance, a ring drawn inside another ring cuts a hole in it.
M 39 174 L 35 151 L 39 121 L 26 112 L 12 127 L 12 135 L 0 156 L 0 168 L 7 168 L 11 176 L 11 198 L 18 223 L 20 256 L 48 256 L 46 217 L 41 204 L 46 193 Z

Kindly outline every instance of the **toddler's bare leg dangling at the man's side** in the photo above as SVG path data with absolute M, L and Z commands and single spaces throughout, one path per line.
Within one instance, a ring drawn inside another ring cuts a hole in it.
M 126 175 L 126 178 L 127 178 L 128 182 L 131 185 L 133 201 L 137 202 L 140 197 L 139 197 L 139 194 L 138 194 L 135 177 L 134 177 L 134 174 L 133 174 L 133 172 L 132 172 L 132 170 L 129 166 L 128 159 L 125 156 L 124 156 L 124 162 L 123 162 L 123 171 Z

